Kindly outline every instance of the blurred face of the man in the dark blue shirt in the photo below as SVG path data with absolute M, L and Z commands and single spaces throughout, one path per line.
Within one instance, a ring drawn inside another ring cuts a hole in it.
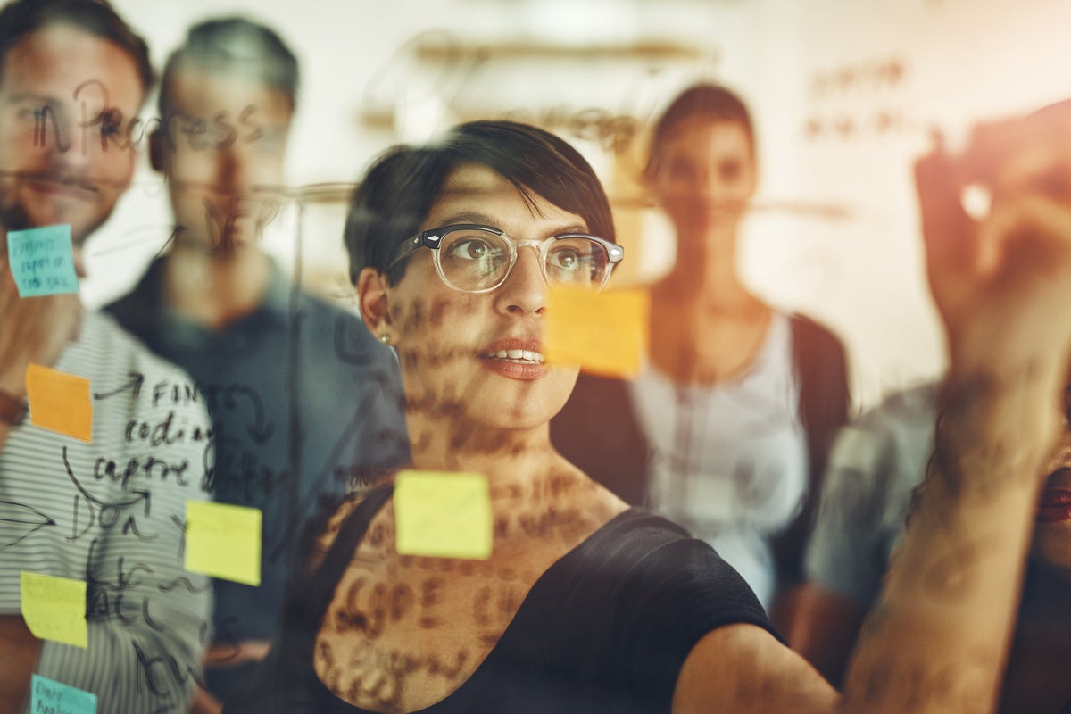
M 255 246 L 278 211 L 293 108 L 254 79 L 179 69 L 161 150 L 176 240 L 212 255 Z M 157 138 L 159 140 L 159 138 Z

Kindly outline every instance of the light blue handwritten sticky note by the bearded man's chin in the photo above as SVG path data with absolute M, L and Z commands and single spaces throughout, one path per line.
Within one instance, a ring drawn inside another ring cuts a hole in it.
M 78 292 L 70 224 L 9 231 L 7 260 L 22 298 Z

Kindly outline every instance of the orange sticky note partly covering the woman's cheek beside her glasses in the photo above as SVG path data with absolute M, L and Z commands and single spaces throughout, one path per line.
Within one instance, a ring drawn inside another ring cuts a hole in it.
M 544 354 L 604 377 L 631 378 L 648 345 L 650 297 L 645 290 L 592 292 L 554 286 Z

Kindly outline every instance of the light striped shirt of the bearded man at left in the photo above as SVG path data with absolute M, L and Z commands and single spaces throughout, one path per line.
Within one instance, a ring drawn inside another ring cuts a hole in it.
M 188 377 L 87 312 L 56 369 L 88 378 L 92 441 L 13 427 L 0 453 L 0 614 L 21 571 L 87 581 L 88 648 L 42 642 L 36 671 L 99 712 L 185 712 L 211 636 L 207 578 L 183 566 L 187 499 L 213 456 Z M 32 405 L 31 405 L 32 408 Z

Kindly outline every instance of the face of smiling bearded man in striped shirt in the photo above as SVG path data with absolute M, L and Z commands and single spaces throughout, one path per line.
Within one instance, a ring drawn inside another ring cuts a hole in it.
M 134 173 L 144 92 L 118 45 L 69 25 L 22 37 L 0 75 L 0 228 L 71 224 L 80 243 Z

